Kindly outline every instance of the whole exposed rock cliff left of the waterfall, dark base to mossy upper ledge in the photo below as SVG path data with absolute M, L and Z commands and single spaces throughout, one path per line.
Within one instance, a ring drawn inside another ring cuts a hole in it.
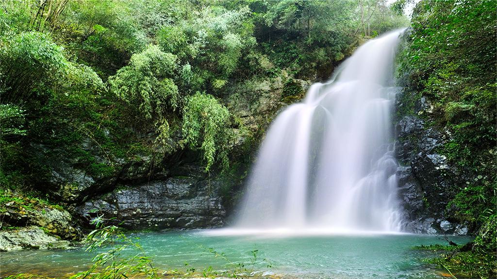
M 105 219 L 112 219 L 110 223 L 129 229 L 221 226 L 227 209 L 234 207 L 233 196 L 241 192 L 251 153 L 278 110 L 288 105 L 283 99 L 285 90 L 291 88 L 297 95 L 290 97 L 301 98 L 309 84 L 310 81 L 283 76 L 245 82 L 238 93 L 226 96 L 227 107 L 244 127 L 231 129 L 235 140 L 230 142 L 230 159 L 237 168 L 230 170 L 228 179 L 215 175 L 208 178 L 202 170 L 201 156 L 182 149 L 178 133 L 169 142 L 172 147 L 166 156 L 116 160 L 115 171 L 107 176 L 91 176 L 74 169 L 70 162 L 58 164 L 52 176 L 58 185 L 56 193 L 75 206 L 74 215 L 86 225 L 103 214 Z M 83 148 L 90 152 L 94 146 L 89 141 Z M 222 189 L 227 188 L 231 193 L 222 194 Z

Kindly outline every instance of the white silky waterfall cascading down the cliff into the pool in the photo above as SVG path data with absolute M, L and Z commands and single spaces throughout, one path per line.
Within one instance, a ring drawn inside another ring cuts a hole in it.
M 397 30 L 370 40 L 334 78 L 272 123 L 235 227 L 400 230 L 390 120 Z

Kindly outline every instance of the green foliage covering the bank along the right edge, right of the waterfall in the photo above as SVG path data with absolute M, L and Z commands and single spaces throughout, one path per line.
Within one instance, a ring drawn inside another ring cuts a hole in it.
M 430 262 L 471 278 L 495 278 L 496 1 L 421 1 L 400 57 L 400 75 L 425 96 L 424 119 L 449 137 L 437 150 L 467 181 L 449 189 L 447 215 L 480 227 L 471 251 Z

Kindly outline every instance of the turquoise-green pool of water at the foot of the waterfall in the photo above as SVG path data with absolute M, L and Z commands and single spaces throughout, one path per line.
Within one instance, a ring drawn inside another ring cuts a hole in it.
M 162 270 L 198 271 L 230 269 L 225 260 L 208 251 L 224 252 L 234 263 L 248 263 L 250 251 L 259 250 L 257 271 L 283 278 L 305 279 L 439 279 L 433 267 L 419 259 L 429 256 L 415 245 L 445 243 L 436 236 L 390 235 L 209 235 L 205 231 L 170 231 L 133 234 Z M 468 237 L 451 237 L 466 243 Z M 83 249 L 30 250 L 2 253 L 1 276 L 39 273 L 53 277 L 83 271 L 94 254 Z M 262 261 L 266 259 L 267 261 Z M 185 267 L 185 263 L 188 266 Z M 270 263 L 271 267 L 267 267 Z

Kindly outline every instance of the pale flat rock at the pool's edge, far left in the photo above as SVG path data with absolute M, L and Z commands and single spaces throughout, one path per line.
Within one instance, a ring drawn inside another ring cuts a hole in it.
M 36 226 L 0 231 L 0 251 L 21 249 L 68 249 L 70 242 L 47 234 Z

